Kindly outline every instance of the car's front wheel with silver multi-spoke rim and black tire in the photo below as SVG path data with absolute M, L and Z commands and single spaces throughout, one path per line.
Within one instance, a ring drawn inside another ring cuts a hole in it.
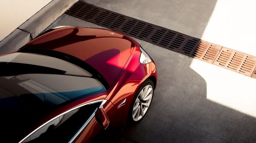
M 147 92 L 146 92 L 147 90 Z M 144 93 L 145 92 L 145 93 Z M 129 123 L 140 122 L 147 113 L 154 95 L 154 83 L 147 79 L 133 97 L 128 114 Z M 143 111 L 143 112 L 141 112 Z

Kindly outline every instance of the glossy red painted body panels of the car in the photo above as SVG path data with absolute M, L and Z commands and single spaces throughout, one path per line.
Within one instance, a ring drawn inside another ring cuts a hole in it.
M 38 126 L 58 114 L 95 100 L 107 100 L 104 110 L 109 118 L 108 128 L 124 126 L 132 100 L 142 83 L 146 79 L 151 79 L 154 87 L 157 83 L 154 61 L 141 64 L 139 47 L 135 40 L 118 32 L 72 26 L 51 29 L 23 46 L 21 50 L 43 48 L 77 57 L 95 68 L 109 85 L 104 93 L 76 100 L 59 108 L 43 118 Z M 125 104 L 118 107 L 124 99 Z M 38 127 L 33 129 L 36 128 Z M 93 118 L 75 142 L 89 141 L 101 130 L 102 126 Z

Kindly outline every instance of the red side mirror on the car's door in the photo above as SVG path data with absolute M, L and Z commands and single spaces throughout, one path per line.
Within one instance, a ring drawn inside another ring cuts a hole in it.
M 106 129 L 109 125 L 109 118 L 104 111 L 103 108 L 99 108 L 98 111 L 96 111 L 96 120 L 98 123 L 102 126 L 103 129 Z

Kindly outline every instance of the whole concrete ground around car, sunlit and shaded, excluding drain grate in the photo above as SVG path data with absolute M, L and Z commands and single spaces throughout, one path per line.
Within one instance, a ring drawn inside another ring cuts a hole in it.
M 84 0 L 256 56 L 256 2 L 242 0 Z M 99 27 L 69 15 L 57 25 Z M 256 142 L 256 79 L 137 41 L 158 68 L 151 108 L 105 142 Z M 4 52 L 4 51 L 1 51 Z

